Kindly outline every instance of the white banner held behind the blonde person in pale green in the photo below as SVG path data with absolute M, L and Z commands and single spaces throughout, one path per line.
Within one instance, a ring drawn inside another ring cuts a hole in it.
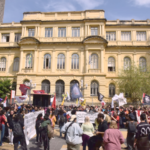
M 71 116 L 71 111 L 69 111 L 68 114 Z M 89 117 L 91 123 L 95 123 L 95 119 L 97 118 L 98 113 L 87 113 L 83 111 L 77 111 L 76 115 L 78 123 L 84 123 L 86 116 Z

